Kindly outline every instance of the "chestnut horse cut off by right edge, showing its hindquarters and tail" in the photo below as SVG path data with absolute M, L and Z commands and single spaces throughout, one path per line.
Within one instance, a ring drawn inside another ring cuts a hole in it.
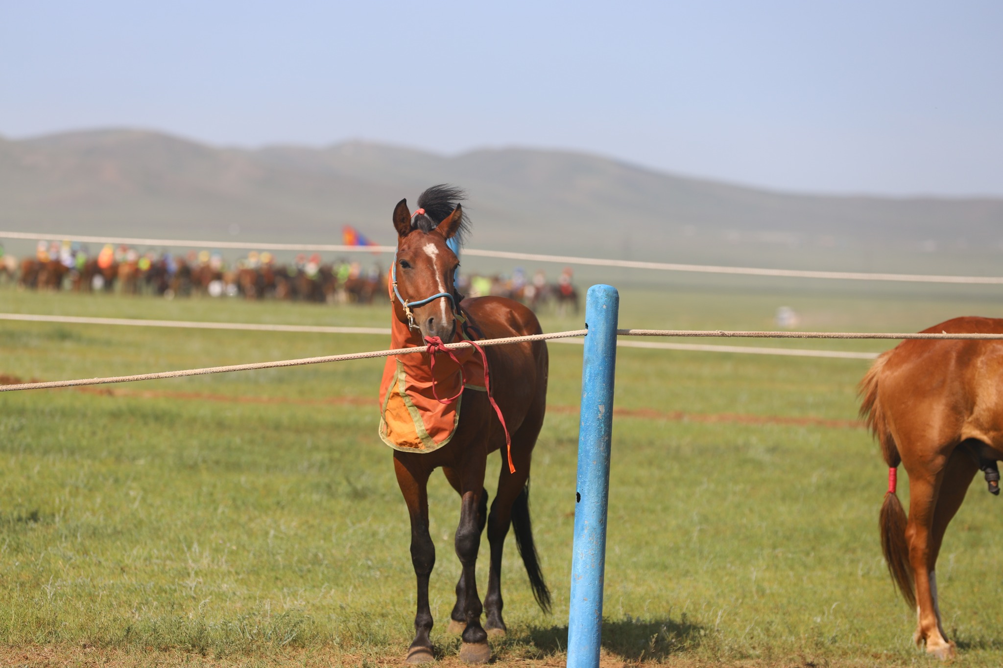
M 1003 333 L 1003 319 L 957 317 L 926 332 Z M 1003 342 L 906 341 L 882 355 L 861 382 L 864 416 L 890 467 L 881 536 L 892 578 L 919 623 L 917 644 L 954 656 L 937 605 L 937 555 L 944 532 L 982 469 L 999 493 L 1003 459 Z M 909 475 L 909 518 L 895 495 L 895 470 Z

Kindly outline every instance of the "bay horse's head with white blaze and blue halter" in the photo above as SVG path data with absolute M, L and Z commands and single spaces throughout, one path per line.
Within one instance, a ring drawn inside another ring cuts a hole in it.
M 439 337 L 448 343 L 455 333 L 454 310 L 459 305 L 453 303 L 453 276 L 459 260 L 445 241 L 460 231 L 463 209 L 456 204 L 438 223 L 430 213 L 419 208 L 412 215 L 406 199 L 393 210 L 397 229 L 393 289 L 398 297 L 394 312 L 401 322 L 409 322 L 409 310 L 422 337 Z

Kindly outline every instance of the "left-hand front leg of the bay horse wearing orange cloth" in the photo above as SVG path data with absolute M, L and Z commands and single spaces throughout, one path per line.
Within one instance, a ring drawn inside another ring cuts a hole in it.
M 428 607 L 428 577 L 435 566 L 435 545 L 428 535 L 428 474 L 415 456 L 394 454 L 393 468 L 397 474 L 407 512 L 411 517 L 411 564 L 418 582 L 417 612 L 414 615 L 414 640 L 407 652 L 407 663 L 434 661 L 432 641 L 432 611 Z M 421 457 L 418 455 L 417 457 Z

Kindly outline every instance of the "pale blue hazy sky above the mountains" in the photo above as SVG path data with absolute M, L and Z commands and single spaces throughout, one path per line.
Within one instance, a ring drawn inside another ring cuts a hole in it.
M 0 0 L 0 135 L 123 125 L 1003 195 L 1003 2 Z

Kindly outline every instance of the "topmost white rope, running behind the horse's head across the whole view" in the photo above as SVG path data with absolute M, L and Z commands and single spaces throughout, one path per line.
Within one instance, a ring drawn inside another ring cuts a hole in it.
M 334 243 L 275 243 L 271 241 L 199 241 L 193 239 L 146 239 L 118 236 L 83 236 L 80 234 L 41 234 L 35 232 L 0 231 L 0 238 L 61 241 L 74 239 L 90 243 L 128 243 L 150 246 L 192 246 L 197 248 L 251 248 L 258 250 L 310 250 L 328 252 L 394 252 L 396 247 L 348 246 Z M 785 278 L 825 278 L 839 280 L 893 280 L 923 283 L 975 283 L 1000 285 L 1003 276 L 950 276 L 924 273 L 870 273 L 866 271 L 813 271 L 807 269 L 767 269 L 754 266 L 719 266 L 714 264 L 679 264 L 675 262 L 644 262 L 631 259 L 606 259 L 574 255 L 547 255 L 509 250 L 483 250 L 464 248 L 463 253 L 472 257 L 500 257 L 559 264 L 589 266 L 619 266 L 631 269 L 656 269 L 661 271 L 689 271 L 696 273 L 728 273 L 750 276 L 781 276 Z

